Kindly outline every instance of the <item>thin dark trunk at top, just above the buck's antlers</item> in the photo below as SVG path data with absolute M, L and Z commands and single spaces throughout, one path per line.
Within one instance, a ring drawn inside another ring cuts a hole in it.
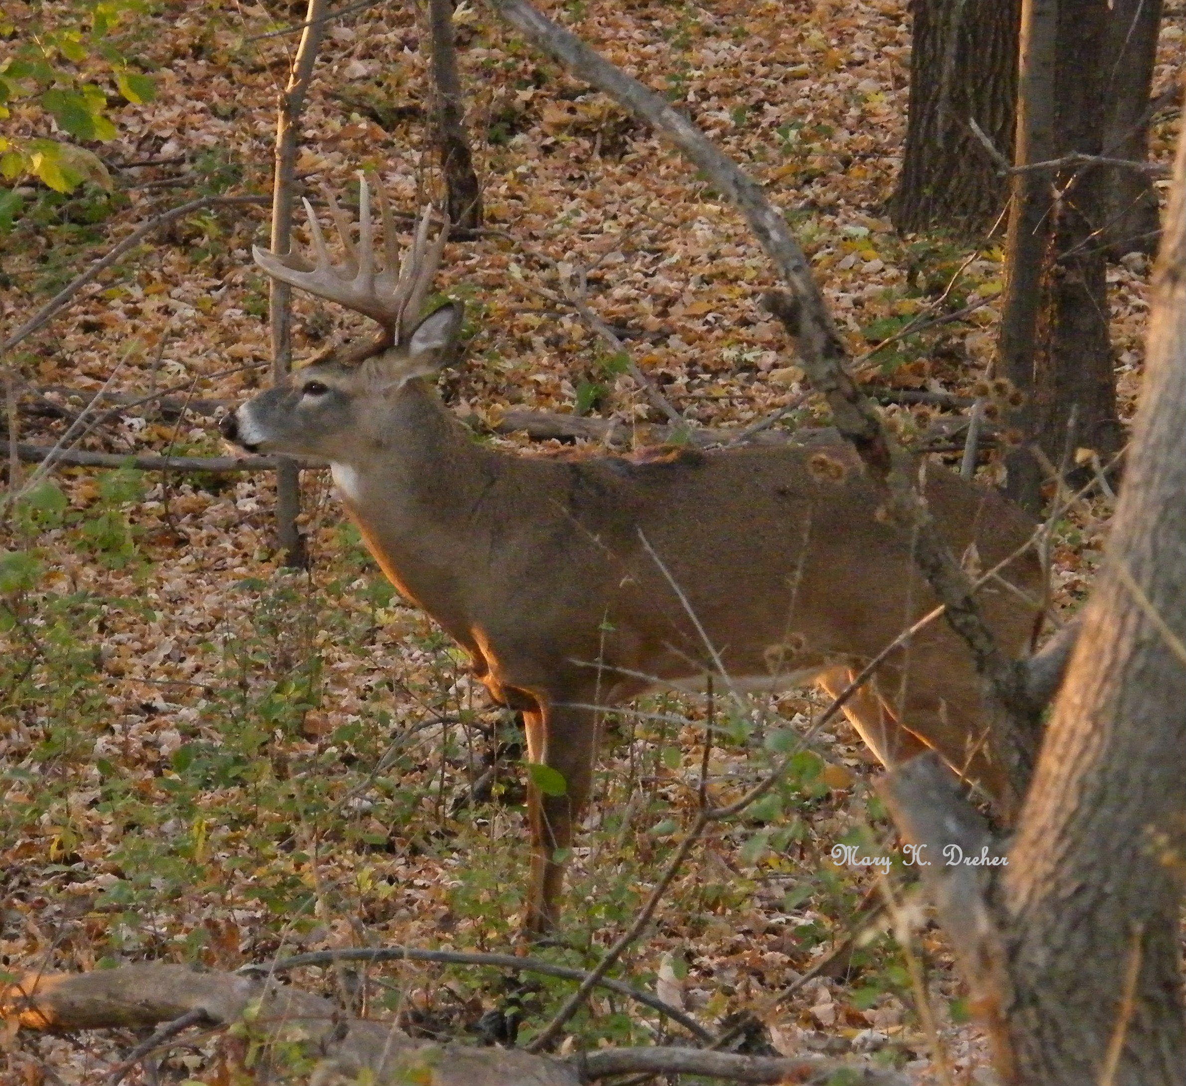
M 433 121 L 441 173 L 445 175 L 445 210 L 454 225 L 477 229 L 482 225 L 482 189 L 473 171 L 470 138 L 465 130 L 465 100 L 457 68 L 452 0 L 428 0 L 428 20 L 433 83 L 436 88 Z

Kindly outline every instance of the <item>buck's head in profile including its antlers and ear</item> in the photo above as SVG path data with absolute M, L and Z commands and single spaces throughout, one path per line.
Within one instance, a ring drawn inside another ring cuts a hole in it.
M 355 446 L 366 445 L 390 429 L 393 401 L 408 382 L 436 372 L 454 357 L 463 318 L 459 304 L 451 302 L 422 321 L 416 320 L 440 264 L 449 224 L 446 221 L 429 242 L 426 207 L 412 248 L 401 262 L 387 200 L 377 185 L 375 192 L 383 228 L 381 268 L 376 267 L 365 177 L 359 181 L 357 245 L 337 200 L 326 193 L 344 251 L 342 262 L 331 260 L 308 200 L 304 204 L 313 241 L 312 262 L 296 254 L 279 256 L 259 247 L 253 249 L 255 262 L 273 279 L 370 317 L 382 334 L 323 353 L 228 415 L 222 423 L 223 435 L 249 452 L 351 462 L 359 452 Z

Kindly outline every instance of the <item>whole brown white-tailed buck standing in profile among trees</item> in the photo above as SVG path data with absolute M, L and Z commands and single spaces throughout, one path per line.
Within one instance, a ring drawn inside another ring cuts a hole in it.
M 380 270 L 365 180 L 361 204 L 356 245 L 330 203 L 342 263 L 307 203 L 315 263 L 260 249 L 255 261 L 374 318 L 383 336 L 294 372 L 223 432 L 251 452 L 329 460 L 387 576 L 466 649 L 497 702 L 523 711 L 530 760 L 567 782 L 563 796 L 530 790 L 525 925 L 540 931 L 555 920 L 563 877 L 554 854 L 569 847 L 589 792 L 598 722 L 588 707 L 706 675 L 718 689 L 810 682 L 835 694 L 935 599 L 844 446 L 822 464 L 818 451 L 795 447 L 566 461 L 471 440 L 431 382 L 454 359 L 461 307 L 417 322 L 447 226 L 429 244 L 426 212 L 401 268 L 381 198 Z M 926 497 L 952 550 L 974 548 L 984 568 L 1032 532 L 995 492 L 937 465 Z M 1014 654 L 1031 635 L 1039 583 L 1027 556 L 981 592 Z M 977 728 L 980 682 L 942 621 L 890 657 L 844 711 L 882 762 L 930 746 L 987 792 L 1002 786 Z

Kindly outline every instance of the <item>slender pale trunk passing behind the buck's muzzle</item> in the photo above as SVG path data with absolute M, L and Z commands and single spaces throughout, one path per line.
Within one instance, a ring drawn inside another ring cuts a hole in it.
M 280 96 L 276 117 L 276 152 L 272 180 L 272 251 L 287 253 L 292 244 L 293 178 L 296 167 L 296 135 L 305 97 L 313 79 L 313 64 L 325 36 L 327 0 L 308 0 L 305 30 Z M 268 325 L 272 333 L 272 378 L 278 384 L 292 365 L 292 288 L 269 281 Z M 276 536 L 286 566 L 305 564 L 305 547 L 296 529 L 300 513 L 300 468 L 295 460 L 279 458 L 276 467 Z

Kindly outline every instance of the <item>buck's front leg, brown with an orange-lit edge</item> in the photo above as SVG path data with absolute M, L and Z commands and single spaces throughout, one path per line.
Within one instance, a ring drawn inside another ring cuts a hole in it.
M 530 761 L 555 769 L 565 779 L 561 796 L 544 794 L 534 781 L 528 781 L 531 882 L 523 930 L 529 935 L 537 935 L 555 927 L 559 916 L 565 858 L 557 861 L 555 857 L 557 850 L 572 848 L 573 825 L 588 799 L 598 723 L 588 710 L 555 704 L 525 711 L 523 723 Z

